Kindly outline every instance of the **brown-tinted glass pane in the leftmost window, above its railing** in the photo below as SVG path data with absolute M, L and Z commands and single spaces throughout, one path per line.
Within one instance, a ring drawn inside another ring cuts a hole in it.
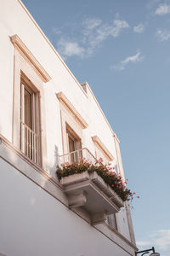
M 31 116 L 31 93 L 25 88 L 25 124 L 32 129 L 32 116 Z

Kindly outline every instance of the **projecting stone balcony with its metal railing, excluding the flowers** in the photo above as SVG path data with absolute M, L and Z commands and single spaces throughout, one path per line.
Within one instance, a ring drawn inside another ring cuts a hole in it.
M 88 160 L 88 163 L 96 162 L 88 148 L 64 154 L 60 156 L 60 161 L 61 164 L 80 163 L 82 158 Z M 60 183 L 64 187 L 69 207 L 85 209 L 89 213 L 92 224 L 104 222 L 107 214 L 119 212 L 120 208 L 124 206 L 122 199 L 97 172 L 85 171 L 61 177 Z

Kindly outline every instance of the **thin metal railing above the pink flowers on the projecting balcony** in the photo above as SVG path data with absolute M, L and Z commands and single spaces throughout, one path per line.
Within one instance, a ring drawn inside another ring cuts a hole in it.
M 59 158 L 60 164 L 65 164 L 66 162 L 80 163 L 82 159 L 88 160 L 88 162 L 92 164 L 97 161 L 94 154 L 92 154 L 88 148 L 81 148 L 76 151 L 72 151 L 71 153 L 60 155 Z

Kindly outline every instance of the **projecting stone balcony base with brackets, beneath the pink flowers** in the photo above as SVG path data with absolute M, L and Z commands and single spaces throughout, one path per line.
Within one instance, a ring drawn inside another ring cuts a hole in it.
M 82 172 L 62 177 L 63 185 L 70 207 L 83 207 L 92 216 L 101 219 L 104 213 L 116 213 L 124 206 L 122 199 L 116 195 L 97 172 Z M 95 222 L 95 221 L 94 221 Z

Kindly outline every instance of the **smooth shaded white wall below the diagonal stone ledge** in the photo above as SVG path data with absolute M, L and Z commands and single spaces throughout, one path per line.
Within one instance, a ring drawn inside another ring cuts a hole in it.
M 0 253 L 129 256 L 13 166 L 0 166 Z

